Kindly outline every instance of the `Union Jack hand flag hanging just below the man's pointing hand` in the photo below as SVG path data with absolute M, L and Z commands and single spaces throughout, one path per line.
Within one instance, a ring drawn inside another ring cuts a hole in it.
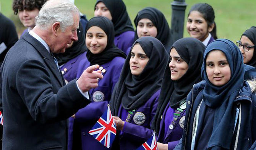
M 105 147 L 109 148 L 115 139 L 116 133 L 117 129 L 108 105 L 107 111 L 103 113 L 96 124 L 91 128 L 89 134 Z

